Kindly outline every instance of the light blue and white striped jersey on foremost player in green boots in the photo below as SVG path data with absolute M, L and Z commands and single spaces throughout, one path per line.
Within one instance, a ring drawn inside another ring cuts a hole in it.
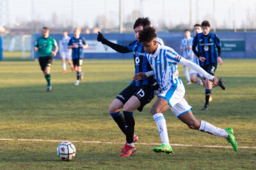
M 181 57 L 175 50 L 158 43 L 156 52 L 154 54 L 148 54 L 147 58 L 150 66 L 154 70 L 160 91 L 182 84 L 178 71 L 178 64 Z

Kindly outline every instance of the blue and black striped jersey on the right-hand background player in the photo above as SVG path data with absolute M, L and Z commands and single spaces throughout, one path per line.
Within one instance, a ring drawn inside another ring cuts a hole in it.
M 216 48 L 218 49 L 218 52 Z M 217 57 L 221 55 L 220 39 L 212 32 L 207 36 L 202 32 L 198 33 L 193 39 L 193 52 L 197 57 L 205 57 L 204 62 L 199 60 L 200 66 L 206 66 L 211 63 L 218 64 Z

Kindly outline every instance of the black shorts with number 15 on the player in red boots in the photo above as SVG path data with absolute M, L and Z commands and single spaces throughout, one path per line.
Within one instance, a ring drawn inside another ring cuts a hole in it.
M 116 96 L 116 99 L 125 104 L 132 96 L 138 97 L 141 103 L 138 111 L 142 111 L 143 107 L 154 98 L 154 89 L 150 86 L 138 87 L 136 85 L 129 85 Z

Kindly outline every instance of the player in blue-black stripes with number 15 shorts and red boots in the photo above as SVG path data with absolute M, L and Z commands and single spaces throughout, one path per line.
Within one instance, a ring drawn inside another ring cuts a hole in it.
M 147 72 L 152 70 L 147 60 L 147 52 L 143 49 L 143 46 L 139 42 L 140 36 L 139 33 L 143 31 L 145 27 L 150 26 L 150 20 L 148 18 L 138 18 L 134 22 L 134 34 L 135 41 L 132 41 L 127 46 L 118 45 L 111 43 L 108 39 L 99 32 L 97 40 L 102 42 L 104 45 L 108 45 L 117 52 L 120 53 L 129 53 L 133 52 L 134 67 L 135 73 L 141 71 Z M 161 39 L 158 39 L 161 41 Z M 161 41 L 163 43 L 163 41 Z M 126 143 L 122 149 L 120 157 L 129 157 L 132 153 L 136 151 L 134 142 L 138 140 L 138 136 L 134 135 L 134 117 L 133 112 L 135 110 L 142 111 L 143 106 L 149 103 L 154 97 L 154 88 L 152 84 L 154 83 L 154 78 L 148 78 L 141 81 L 131 81 L 131 84 L 126 87 L 116 98 L 113 100 L 109 106 L 109 113 L 111 117 L 115 120 L 118 127 L 124 132 L 126 136 Z M 120 113 L 120 110 L 123 108 L 123 113 Z

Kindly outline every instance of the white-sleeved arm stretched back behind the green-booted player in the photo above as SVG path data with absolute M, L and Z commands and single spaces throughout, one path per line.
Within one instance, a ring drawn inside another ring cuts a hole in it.
M 191 69 L 195 70 L 197 73 L 202 74 L 205 78 L 212 81 L 213 85 L 217 85 L 218 79 L 215 76 L 212 76 L 211 74 L 207 73 L 202 69 L 202 67 L 196 65 L 194 62 L 191 62 L 190 60 L 186 60 L 183 57 L 180 57 L 180 63 L 190 67 Z

